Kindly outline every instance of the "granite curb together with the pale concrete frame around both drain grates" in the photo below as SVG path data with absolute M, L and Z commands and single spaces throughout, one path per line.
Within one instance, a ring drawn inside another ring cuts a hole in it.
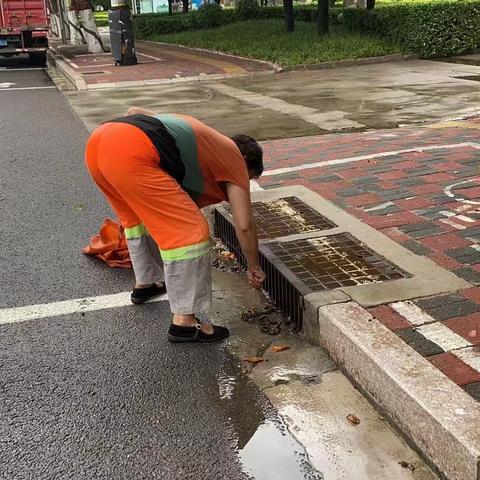
M 269 261 L 303 295 L 303 331 L 324 347 L 345 371 L 391 417 L 394 424 L 451 480 L 480 478 L 480 405 L 452 380 L 377 321 L 365 309 L 392 302 L 394 297 L 429 297 L 455 292 L 469 284 L 430 260 L 352 217 L 304 187 L 255 192 L 255 201 L 295 196 L 335 227 L 320 233 L 276 237 L 292 242 L 317 235 L 348 232 L 410 276 L 388 282 L 303 293 L 300 281 L 270 254 Z M 260 250 L 268 255 L 266 239 Z

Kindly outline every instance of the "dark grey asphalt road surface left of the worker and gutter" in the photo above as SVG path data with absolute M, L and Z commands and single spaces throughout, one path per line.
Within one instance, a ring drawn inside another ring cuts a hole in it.
M 8 65 L 0 84 L 33 88 L 0 88 L 0 308 L 128 290 L 80 253 L 110 215 L 84 127 Z M 225 345 L 172 346 L 168 322 L 157 303 L 0 324 L 0 478 L 247 478 L 238 451 L 273 413 Z

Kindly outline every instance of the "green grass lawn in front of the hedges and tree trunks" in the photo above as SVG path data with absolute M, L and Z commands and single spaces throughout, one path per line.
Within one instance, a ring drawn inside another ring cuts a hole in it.
M 360 35 L 338 25 L 331 27 L 327 37 L 318 37 L 315 25 L 306 22 L 295 22 L 295 32 L 287 33 L 280 19 L 248 20 L 210 30 L 152 35 L 150 40 L 218 50 L 283 66 L 400 52 L 400 47 L 388 40 Z

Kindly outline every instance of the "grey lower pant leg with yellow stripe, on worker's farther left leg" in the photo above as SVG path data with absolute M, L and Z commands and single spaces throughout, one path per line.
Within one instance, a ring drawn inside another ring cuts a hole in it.
M 158 246 L 143 224 L 125 228 L 128 251 L 137 283 L 149 285 L 164 281 L 163 262 Z

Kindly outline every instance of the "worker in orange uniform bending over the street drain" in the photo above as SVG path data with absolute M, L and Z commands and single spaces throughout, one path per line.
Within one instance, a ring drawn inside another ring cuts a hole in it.
M 249 179 L 263 172 L 262 149 L 246 135 L 228 138 L 185 115 L 130 108 L 98 127 L 87 142 L 86 163 L 125 228 L 135 273 L 132 302 L 168 291 L 172 342 L 213 342 L 225 327 L 195 316 L 211 303 L 209 228 L 200 208 L 230 203 L 248 264 L 248 281 L 265 274 Z

